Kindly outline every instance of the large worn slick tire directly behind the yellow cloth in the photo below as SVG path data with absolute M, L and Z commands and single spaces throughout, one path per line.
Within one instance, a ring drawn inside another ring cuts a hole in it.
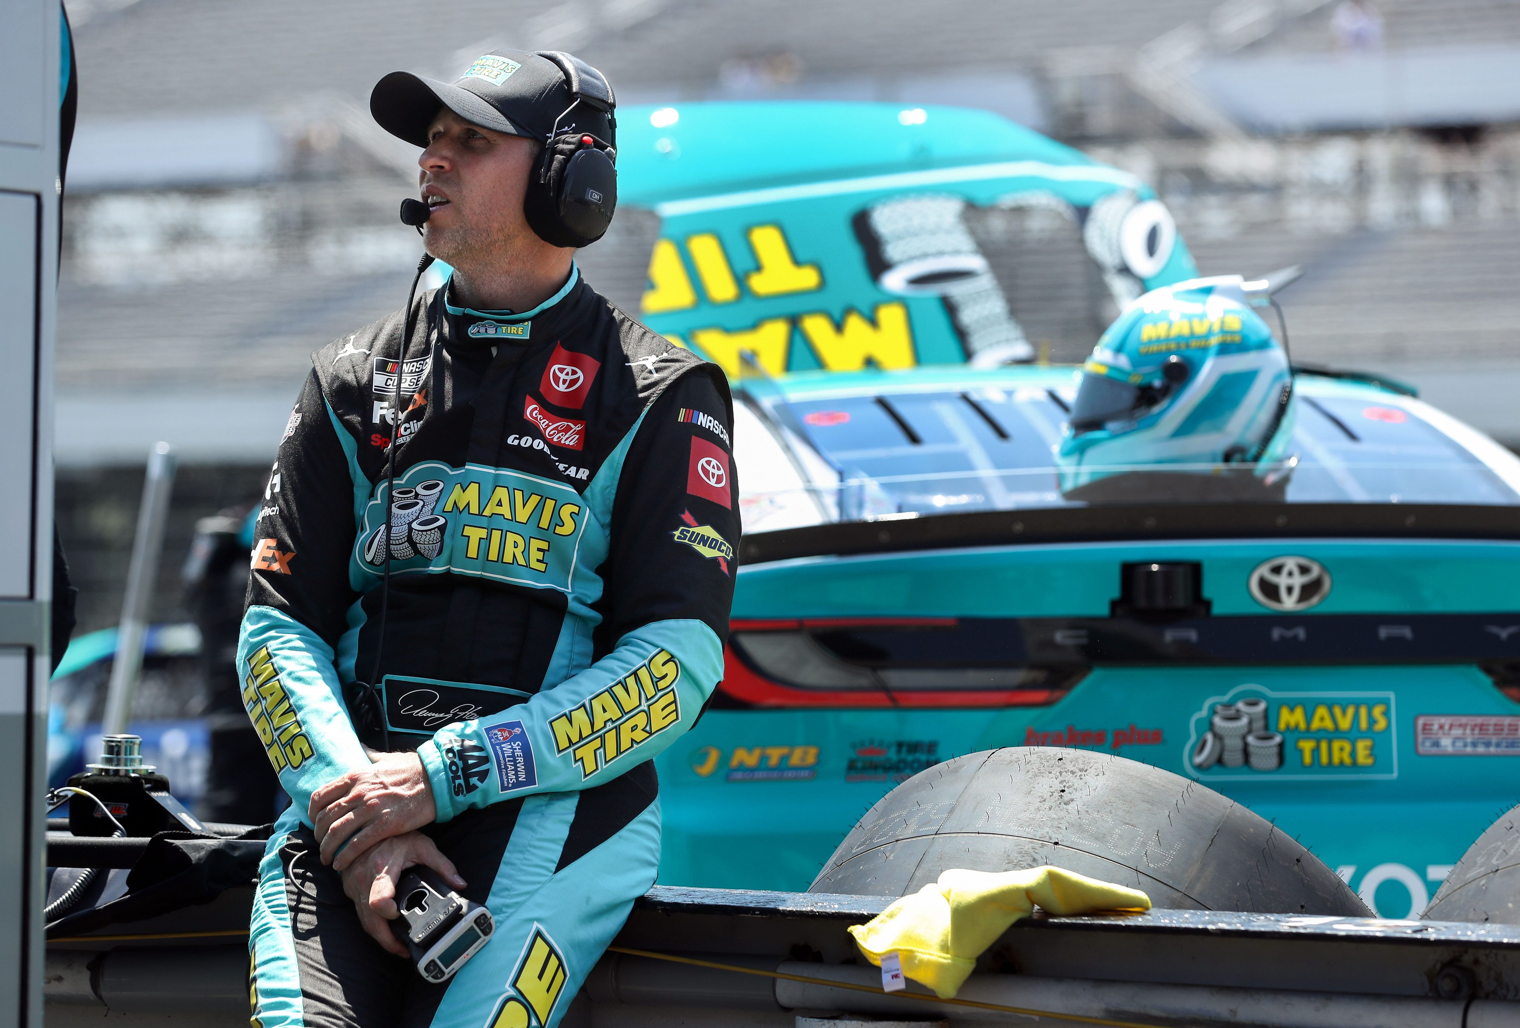
M 906 896 L 950 868 L 1044 864 L 1145 890 L 1161 909 L 1373 915 L 1319 858 L 1234 800 L 1135 760 L 1038 747 L 915 774 L 860 818 L 809 891 Z

